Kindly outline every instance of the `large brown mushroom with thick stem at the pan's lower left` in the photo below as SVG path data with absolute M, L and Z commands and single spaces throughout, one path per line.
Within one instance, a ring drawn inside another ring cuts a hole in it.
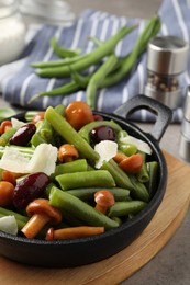
M 31 202 L 26 207 L 26 213 L 31 219 L 21 229 L 29 239 L 36 237 L 46 224 L 56 225 L 62 220 L 62 213 L 58 208 L 52 206 L 48 200 L 37 198 Z

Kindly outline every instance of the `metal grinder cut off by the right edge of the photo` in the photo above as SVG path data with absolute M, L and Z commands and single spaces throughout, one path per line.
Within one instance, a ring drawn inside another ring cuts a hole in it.
M 190 87 L 187 91 L 187 98 L 183 109 L 183 121 L 181 124 L 181 136 L 179 142 L 179 156 L 190 163 Z

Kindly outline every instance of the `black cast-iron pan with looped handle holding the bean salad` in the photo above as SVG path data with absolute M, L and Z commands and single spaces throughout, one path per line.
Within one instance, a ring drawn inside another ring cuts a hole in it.
M 156 114 L 156 122 L 150 134 L 128 123 L 126 117 L 138 109 L 147 109 Z M 14 237 L 0 232 L 0 254 L 16 262 L 44 267 L 70 267 L 90 264 L 107 259 L 132 243 L 146 228 L 163 201 L 167 184 L 167 166 L 159 141 L 171 121 L 171 111 L 159 102 L 137 95 L 119 107 L 114 114 L 103 115 L 105 119 L 114 119 L 130 135 L 145 140 L 153 149 L 152 159 L 159 163 L 157 189 L 147 207 L 133 219 L 125 221 L 116 229 L 104 233 L 66 241 L 45 241 Z M 23 119 L 24 113 L 16 115 Z

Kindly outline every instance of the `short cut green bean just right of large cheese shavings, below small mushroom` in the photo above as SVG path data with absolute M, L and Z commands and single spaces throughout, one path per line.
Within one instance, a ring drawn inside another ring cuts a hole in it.
M 56 166 L 54 173 L 51 175 L 52 179 L 55 176 L 64 174 L 64 173 L 72 173 L 72 172 L 80 172 L 87 171 L 88 163 L 86 159 L 77 159 L 67 163 L 62 163 Z

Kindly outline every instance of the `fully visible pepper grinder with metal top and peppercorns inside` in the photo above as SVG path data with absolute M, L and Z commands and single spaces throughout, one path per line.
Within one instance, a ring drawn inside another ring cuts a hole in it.
M 145 95 L 175 110 L 181 104 L 179 76 L 186 70 L 189 45 L 176 36 L 156 36 L 147 48 Z

